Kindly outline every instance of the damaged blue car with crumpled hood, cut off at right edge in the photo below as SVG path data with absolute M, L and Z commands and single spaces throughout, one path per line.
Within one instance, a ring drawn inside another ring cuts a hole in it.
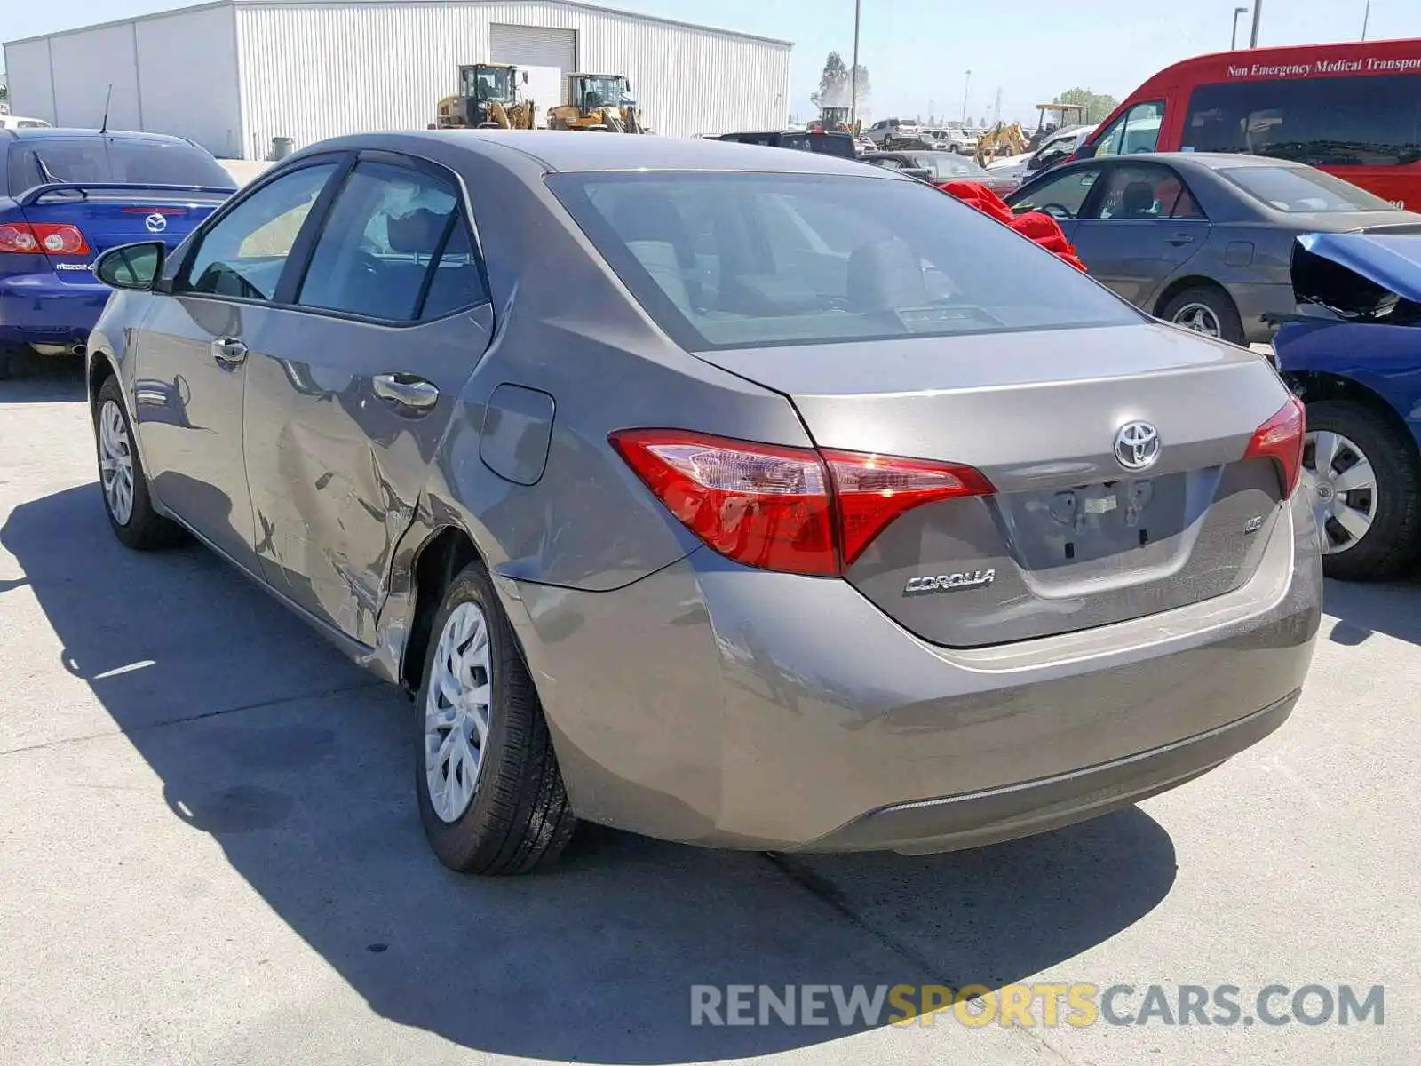
M 1303 235 L 1292 274 L 1273 350 L 1307 405 L 1324 571 L 1397 577 L 1421 556 L 1421 236 Z

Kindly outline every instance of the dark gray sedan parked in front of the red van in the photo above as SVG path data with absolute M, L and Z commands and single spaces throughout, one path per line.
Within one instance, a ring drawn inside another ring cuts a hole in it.
M 1272 338 L 1295 310 L 1299 233 L 1421 230 L 1397 210 L 1312 166 L 1194 152 L 1097 156 L 1006 198 L 1060 222 L 1091 276 L 1137 307 L 1235 344 Z

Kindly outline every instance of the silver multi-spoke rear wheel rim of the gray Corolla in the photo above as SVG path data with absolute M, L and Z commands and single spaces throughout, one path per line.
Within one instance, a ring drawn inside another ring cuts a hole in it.
M 473 800 L 489 736 L 489 620 L 473 603 L 449 614 L 425 695 L 425 780 L 442 822 L 458 822 Z

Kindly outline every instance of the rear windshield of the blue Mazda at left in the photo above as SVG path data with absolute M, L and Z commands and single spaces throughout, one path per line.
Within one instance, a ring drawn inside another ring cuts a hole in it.
M 193 145 L 98 134 L 13 142 L 9 179 L 11 195 L 50 182 L 236 188 L 222 163 Z

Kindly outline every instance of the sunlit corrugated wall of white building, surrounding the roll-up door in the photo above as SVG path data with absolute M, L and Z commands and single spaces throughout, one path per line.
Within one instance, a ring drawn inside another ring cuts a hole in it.
M 489 26 L 577 31 L 581 70 L 625 74 L 658 134 L 779 126 L 790 50 L 705 30 L 558 4 L 239 6 L 244 148 L 367 129 L 423 129 L 460 63 L 490 60 Z M 546 108 L 551 101 L 537 101 Z

